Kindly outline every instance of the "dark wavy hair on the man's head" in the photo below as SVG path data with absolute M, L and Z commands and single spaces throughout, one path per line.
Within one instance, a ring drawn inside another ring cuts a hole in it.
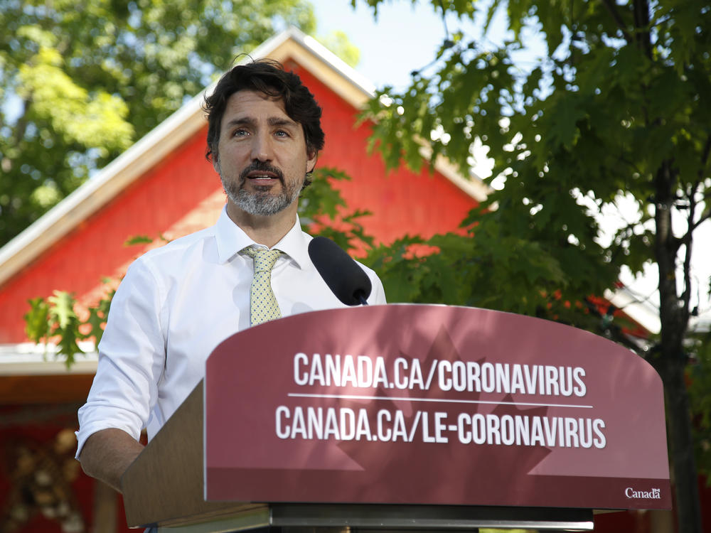
M 309 154 L 324 148 L 324 130 L 321 129 L 321 107 L 314 95 L 301 83 L 294 72 L 287 72 L 278 61 L 259 59 L 237 65 L 220 78 L 210 96 L 205 96 L 203 109 L 208 116 L 208 149 L 205 157 L 213 161 L 218 154 L 220 128 L 230 96 L 241 90 L 264 93 L 282 99 L 289 118 L 304 128 L 304 139 Z

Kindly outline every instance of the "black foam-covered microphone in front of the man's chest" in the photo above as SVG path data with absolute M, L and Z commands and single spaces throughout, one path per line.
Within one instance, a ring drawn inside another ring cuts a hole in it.
M 309 257 L 336 298 L 346 306 L 357 306 L 370 296 L 373 285 L 358 263 L 341 247 L 326 237 L 314 237 L 309 242 Z

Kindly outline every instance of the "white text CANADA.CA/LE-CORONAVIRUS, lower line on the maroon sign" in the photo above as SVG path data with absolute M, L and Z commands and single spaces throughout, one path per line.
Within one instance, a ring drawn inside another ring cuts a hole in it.
M 333 441 L 383 441 L 548 448 L 604 448 L 602 419 L 520 414 L 481 414 L 349 407 L 287 407 L 275 410 L 279 438 Z

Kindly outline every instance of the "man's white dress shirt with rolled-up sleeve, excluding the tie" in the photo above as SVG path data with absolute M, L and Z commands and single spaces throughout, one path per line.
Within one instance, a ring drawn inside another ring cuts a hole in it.
M 346 307 L 311 262 L 311 237 L 299 220 L 274 248 L 284 254 L 272 270 L 282 316 Z M 99 344 L 96 377 L 79 410 L 77 458 L 88 436 L 117 428 L 149 439 L 205 375 L 205 359 L 225 338 L 250 327 L 255 242 L 223 209 L 216 225 L 139 257 L 111 303 Z M 362 265 L 361 265 L 362 266 Z M 385 303 L 383 284 L 368 303 Z

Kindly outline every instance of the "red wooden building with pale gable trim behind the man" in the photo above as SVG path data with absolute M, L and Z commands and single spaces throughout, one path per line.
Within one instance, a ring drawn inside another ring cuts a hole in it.
M 349 208 L 373 213 L 363 226 L 379 242 L 454 230 L 486 195 L 480 181 L 465 180 L 445 161 L 434 173 L 425 166 L 386 174 L 380 156 L 367 154 L 368 124 L 356 125 L 373 87 L 312 38 L 292 29 L 252 57 L 279 60 L 314 92 L 326 132 L 318 164 L 352 177 L 335 186 Z M 120 279 L 144 251 L 124 246 L 128 237 L 173 239 L 217 220 L 225 195 L 204 157 L 202 100 L 196 96 L 0 249 L 0 531 L 125 529 L 120 497 L 80 473 L 73 459 L 76 411 L 96 367 L 93 347 L 66 370 L 26 342 L 23 314 L 29 298 L 55 289 L 95 303 L 106 290 L 102 279 Z M 610 522 L 603 517 L 599 530 L 649 530 L 648 515 L 615 516 L 612 529 L 602 529 Z

